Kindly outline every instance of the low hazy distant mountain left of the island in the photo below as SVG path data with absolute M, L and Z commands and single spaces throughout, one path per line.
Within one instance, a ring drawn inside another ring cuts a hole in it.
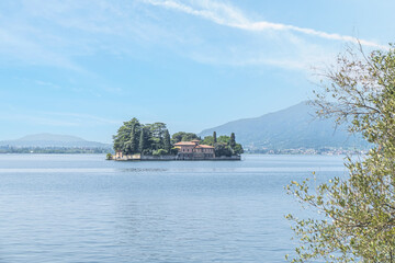
M 2 140 L 0 146 L 9 147 L 81 147 L 81 148 L 111 148 L 110 145 L 97 141 L 89 141 L 76 136 L 55 135 L 55 134 L 35 134 L 27 135 L 15 140 Z

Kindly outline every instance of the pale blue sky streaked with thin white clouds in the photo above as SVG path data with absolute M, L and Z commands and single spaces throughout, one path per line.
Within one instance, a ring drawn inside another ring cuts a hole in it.
M 314 68 L 394 42 L 392 0 L 1 0 L 0 140 L 200 133 L 312 98 Z

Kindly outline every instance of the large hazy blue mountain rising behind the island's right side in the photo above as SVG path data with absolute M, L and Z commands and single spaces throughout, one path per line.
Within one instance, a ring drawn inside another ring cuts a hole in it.
M 208 128 L 199 135 L 236 134 L 246 149 L 366 148 L 361 136 L 350 135 L 345 125 L 335 128 L 334 119 L 318 119 L 314 108 L 302 102 L 256 118 L 244 118 Z

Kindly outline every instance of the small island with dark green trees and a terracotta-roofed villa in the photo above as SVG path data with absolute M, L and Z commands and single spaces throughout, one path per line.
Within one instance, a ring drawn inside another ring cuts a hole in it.
M 165 123 L 140 124 L 132 118 L 119 128 L 113 136 L 115 155 L 108 160 L 115 161 L 157 161 L 157 160 L 240 160 L 242 146 L 236 142 L 235 134 L 217 138 L 179 132 L 170 137 Z

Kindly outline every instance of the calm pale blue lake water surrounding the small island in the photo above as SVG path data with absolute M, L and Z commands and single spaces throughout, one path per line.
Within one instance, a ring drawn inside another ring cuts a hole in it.
M 284 186 L 342 157 L 114 162 L 0 155 L 0 262 L 284 262 L 295 247 Z

